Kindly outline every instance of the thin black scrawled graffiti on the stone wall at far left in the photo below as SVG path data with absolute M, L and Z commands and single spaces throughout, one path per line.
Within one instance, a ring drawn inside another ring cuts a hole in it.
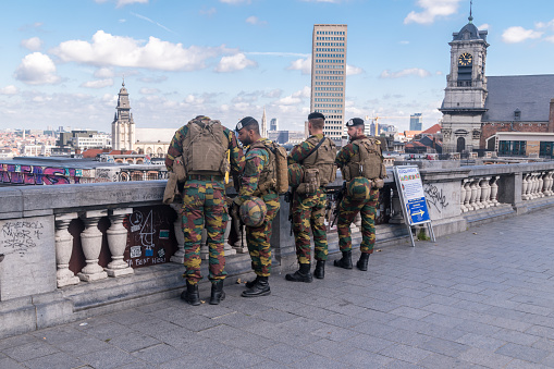
M 39 221 L 8 221 L 0 230 L 0 254 L 19 254 L 23 257 L 27 250 L 37 246 L 44 233 Z

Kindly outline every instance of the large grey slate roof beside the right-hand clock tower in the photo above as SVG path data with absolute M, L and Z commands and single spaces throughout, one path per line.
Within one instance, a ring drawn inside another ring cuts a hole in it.
M 554 74 L 487 77 L 487 89 L 482 122 L 513 122 L 517 109 L 521 122 L 549 121 Z

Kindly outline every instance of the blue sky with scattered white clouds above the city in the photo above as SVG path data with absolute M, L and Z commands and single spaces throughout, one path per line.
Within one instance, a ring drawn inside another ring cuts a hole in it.
M 346 114 L 439 122 L 469 0 L 17 0 L 0 4 L 0 130 L 111 132 L 122 81 L 139 128 L 205 114 L 300 131 L 315 24 L 346 24 Z M 554 1 L 475 0 L 485 74 L 553 73 Z

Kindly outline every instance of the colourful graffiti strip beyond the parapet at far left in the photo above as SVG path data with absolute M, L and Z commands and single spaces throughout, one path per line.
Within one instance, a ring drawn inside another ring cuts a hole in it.
M 60 185 L 95 182 L 91 169 L 0 164 L 0 183 Z

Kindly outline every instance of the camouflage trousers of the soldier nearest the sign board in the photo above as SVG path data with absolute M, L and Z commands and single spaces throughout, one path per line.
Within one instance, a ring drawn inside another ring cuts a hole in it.
M 372 254 L 376 245 L 376 214 L 379 201 L 379 189 L 372 188 L 369 200 L 354 201 L 345 196 L 338 205 L 337 233 L 341 251 L 352 250 L 350 224 L 356 214 L 361 214 L 361 245 L 360 251 Z

